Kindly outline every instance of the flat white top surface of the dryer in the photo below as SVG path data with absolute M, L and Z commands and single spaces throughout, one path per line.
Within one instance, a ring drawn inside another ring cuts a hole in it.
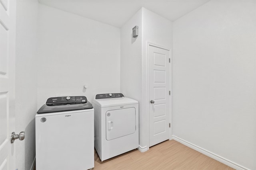
M 108 98 L 108 99 L 95 99 L 92 101 L 93 104 L 96 104 L 99 107 L 112 107 L 112 106 L 122 106 L 129 104 L 138 104 L 138 101 L 130 98 Z

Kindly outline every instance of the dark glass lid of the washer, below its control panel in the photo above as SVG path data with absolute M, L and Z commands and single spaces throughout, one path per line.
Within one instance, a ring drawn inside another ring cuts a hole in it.
M 82 110 L 82 109 L 92 109 L 92 104 L 90 102 L 86 102 L 83 104 L 67 104 L 67 105 L 51 105 L 48 106 L 44 104 L 37 113 L 52 113 L 58 111 L 72 111 L 72 110 Z

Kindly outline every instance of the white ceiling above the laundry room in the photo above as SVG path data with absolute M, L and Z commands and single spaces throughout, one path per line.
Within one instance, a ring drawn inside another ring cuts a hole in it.
M 39 0 L 60 10 L 122 27 L 141 7 L 174 21 L 209 0 Z

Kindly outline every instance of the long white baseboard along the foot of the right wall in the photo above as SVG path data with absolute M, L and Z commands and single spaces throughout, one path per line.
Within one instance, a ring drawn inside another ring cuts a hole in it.
M 178 141 L 179 143 L 182 143 L 183 145 L 186 145 L 187 147 L 190 147 L 190 148 L 192 148 L 194 150 L 197 150 L 198 152 L 200 152 L 202 154 L 205 154 L 206 156 L 209 156 L 210 158 L 218 160 L 219 162 L 222 162 L 223 164 L 226 164 L 226 165 L 228 165 L 228 166 L 230 166 L 230 167 L 232 167 L 232 168 L 234 168 L 236 170 L 250 170 L 248 168 L 245 168 L 244 166 L 236 164 L 235 162 L 232 162 L 232 161 L 230 161 L 230 160 L 228 160 L 226 158 L 223 158 L 222 156 L 219 156 L 219 155 L 214 154 L 214 153 L 212 153 L 212 152 L 210 152 L 208 150 L 200 148 L 200 147 L 198 147 L 198 146 L 196 146 L 196 145 L 194 145 L 194 144 L 192 144 L 192 143 L 190 143 L 188 141 L 180 139 L 179 137 L 176 137 L 174 135 L 172 135 L 172 139 L 174 139 L 175 141 Z

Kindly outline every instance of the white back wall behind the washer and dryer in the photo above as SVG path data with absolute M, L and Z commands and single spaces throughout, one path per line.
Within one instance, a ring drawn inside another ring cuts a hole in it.
M 53 96 L 120 92 L 119 28 L 41 4 L 38 22 L 38 108 Z

